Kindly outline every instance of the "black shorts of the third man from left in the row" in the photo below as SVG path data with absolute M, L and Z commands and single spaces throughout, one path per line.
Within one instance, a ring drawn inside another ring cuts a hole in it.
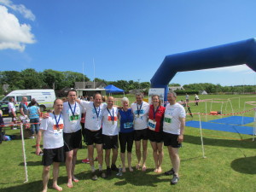
M 102 129 L 98 131 L 90 131 L 85 128 L 85 144 L 86 145 L 93 145 L 96 144 L 102 144 L 103 143 L 103 137 L 102 137 Z

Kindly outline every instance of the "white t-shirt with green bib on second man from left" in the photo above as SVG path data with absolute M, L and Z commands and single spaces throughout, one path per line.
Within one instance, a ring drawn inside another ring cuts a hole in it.
M 81 129 L 81 112 L 82 108 L 78 102 L 75 104 L 68 105 L 68 102 L 63 103 L 63 110 L 61 114 L 63 114 L 64 119 L 64 132 L 72 133 L 79 131 Z

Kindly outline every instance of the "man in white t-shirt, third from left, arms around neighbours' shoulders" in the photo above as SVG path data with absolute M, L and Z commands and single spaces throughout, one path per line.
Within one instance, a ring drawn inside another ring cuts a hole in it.
M 85 143 L 88 148 L 88 158 L 90 160 L 90 167 L 92 173 L 92 180 L 97 179 L 96 169 L 94 166 L 94 143 L 96 144 L 96 151 L 99 163 L 99 175 L 106 177 L 102 172 L 103 151 L 102 151 L 102 112 L 107 108 L 107 104 L 102 104 L 102 95 L 96 93 L 93 96 L 93 102 L 85 102 L 80 100 L 80 104 L 86 109 L 85 115 Z

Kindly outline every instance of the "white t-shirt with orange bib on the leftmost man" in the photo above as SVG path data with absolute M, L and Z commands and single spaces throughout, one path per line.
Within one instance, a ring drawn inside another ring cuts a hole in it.
M 61 114 L 60 121 L 58 123 L 59 128 L 56 126 L 56 120 L 60 118 L 60 115 L 54 115 L 49 113 L 49 118 L 42 119 L 40 130 L 44 130 L 44 148 L 61 148 L 64 145 L 63 142 L 63 115 Z

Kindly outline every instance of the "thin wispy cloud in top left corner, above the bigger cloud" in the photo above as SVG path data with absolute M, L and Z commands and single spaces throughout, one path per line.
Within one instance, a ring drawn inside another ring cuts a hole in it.
M 10 0 L 0 0 L 0 4 L 3 4 L 4 6 L 19 12 L 28 20 L 36 20 L 36 16 L 32 14 L 32 11 L 30 9 L 26 9 L 23 4 L 16 5 Z

